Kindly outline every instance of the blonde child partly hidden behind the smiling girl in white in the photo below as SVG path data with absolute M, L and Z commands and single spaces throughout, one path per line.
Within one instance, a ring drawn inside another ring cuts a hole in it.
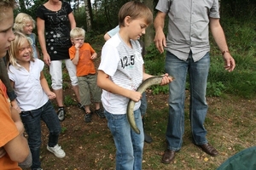
M 32 32 L 36 27 L 35 23 L 36 22 L 32 19 L 32 16 L 29 14 L 20 13 L 15 18 L 14 29 L 15 31 L 20 31 L 26 35 L 28 41 L 32 45 L 33 57 L 38 59 L 40 54 L 36 43 L 37 36 Z

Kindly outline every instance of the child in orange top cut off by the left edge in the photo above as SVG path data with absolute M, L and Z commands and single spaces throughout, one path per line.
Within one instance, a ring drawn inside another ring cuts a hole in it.
M 0 2 L 0 58 L 6 55 L 10 42 L 15 39 L 12 31 L 15 0 Z M 10 107 L 6 88 L 0 79 L 0 169 L 18 170 L 29 154 L 24 137 L 24 127 L 17 110 Z

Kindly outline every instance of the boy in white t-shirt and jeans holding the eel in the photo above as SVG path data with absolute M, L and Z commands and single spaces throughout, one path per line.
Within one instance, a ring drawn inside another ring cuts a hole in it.
M 97 85 L 103 89 L 102 105 L 108 127 L 116 146 L 116 169 L 142 169 L 143 133 L 131 130 L 126 117 L 129 99 L 136 101 L 134 116 L 137 127 L 143 132 L 140 99 L 137 88 L 148 77 L 143 72 L 142 47 L 137 41 L 152 23 L 153 14 L 143 3 L 128 2 L 119 10 L 119 33 L 102 48 Z M 166 74 L 161 84 L 172 82 Z

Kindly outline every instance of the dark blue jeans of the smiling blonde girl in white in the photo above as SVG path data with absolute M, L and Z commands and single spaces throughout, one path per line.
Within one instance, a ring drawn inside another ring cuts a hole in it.
M 59 134 L 61 133 L 61 123 L 50 101 L 41 108 L 33 111 L 22 111 L 21 120 L 28 135 L 28 144 L 32 153 L 32 169 L 41 167 L 40 146 L 41 146 L 41 119 L 49 129 L 50 147 L 58 144 Z

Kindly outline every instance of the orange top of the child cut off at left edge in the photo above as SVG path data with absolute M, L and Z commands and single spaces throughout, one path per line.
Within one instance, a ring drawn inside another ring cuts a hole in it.
M 10 140 L 19 135 L 15 122 L 11 118 L 9 98 L 6 94 L 6 88 L 0 80 L 0 147 L 7 144 Z M 8 154 L 0 158 L 0 169 L 21 169 L 18 162 L 12 161 Z

